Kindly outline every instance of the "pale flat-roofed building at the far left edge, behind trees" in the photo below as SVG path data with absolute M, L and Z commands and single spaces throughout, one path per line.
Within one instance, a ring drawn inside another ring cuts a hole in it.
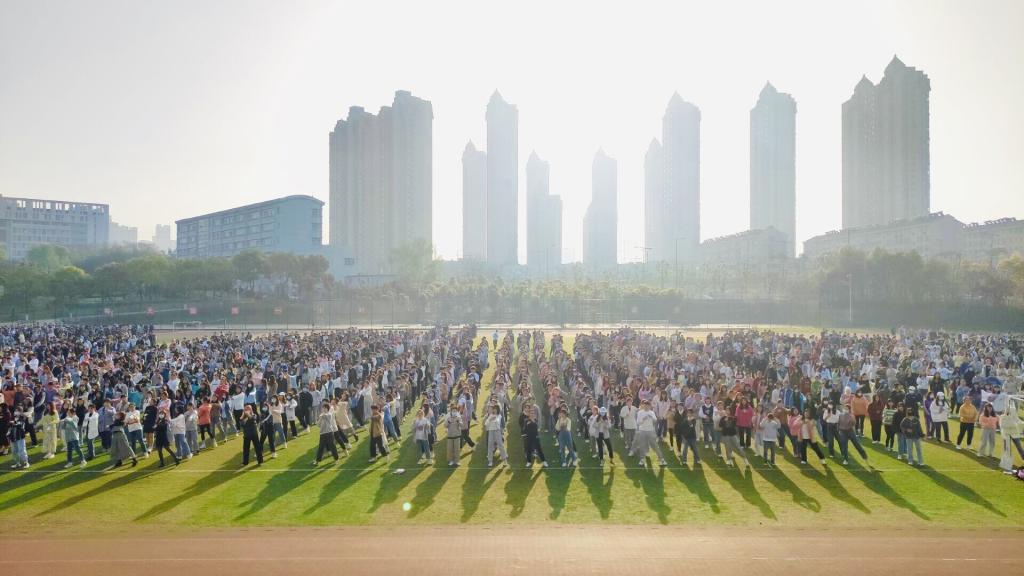
M 106 204 L 0 196 L 0 246 L 23 260 L 35 246 L 69 249 L 104 246 L 110 239 Z

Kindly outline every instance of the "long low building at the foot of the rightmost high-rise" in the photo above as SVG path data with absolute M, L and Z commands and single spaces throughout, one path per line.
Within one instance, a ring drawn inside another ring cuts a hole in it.
M 817 258 L 852 248 L 871 252 L 916 251 L 923 257 L 954 256 L 962 252 L 964 224 L 949 214 L 936 212 L 912 220 L 833 231 L 804 242 L 804 255 Z

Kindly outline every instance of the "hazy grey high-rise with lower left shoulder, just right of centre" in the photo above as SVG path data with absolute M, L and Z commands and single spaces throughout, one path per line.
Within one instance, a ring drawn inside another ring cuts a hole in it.
M 583 219 L 583 262 L 613 266 L 618 261 L 618 164 L 598 150 L 591 177 L 590 205 Z

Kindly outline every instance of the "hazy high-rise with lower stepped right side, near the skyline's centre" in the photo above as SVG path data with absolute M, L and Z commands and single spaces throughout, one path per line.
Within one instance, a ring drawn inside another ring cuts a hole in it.
M 549 190 L 551 168 L 537 153 L 526 160 L 526 265 L 547 272 L 562 263 L 562 199 Z

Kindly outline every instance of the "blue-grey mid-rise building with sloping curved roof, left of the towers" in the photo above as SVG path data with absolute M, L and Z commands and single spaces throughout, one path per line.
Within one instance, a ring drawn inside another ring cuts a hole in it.
M 230 257 L 246 250 L 319 254 L 324 202 L 286 196 L 178 220 L 181 258 Z

